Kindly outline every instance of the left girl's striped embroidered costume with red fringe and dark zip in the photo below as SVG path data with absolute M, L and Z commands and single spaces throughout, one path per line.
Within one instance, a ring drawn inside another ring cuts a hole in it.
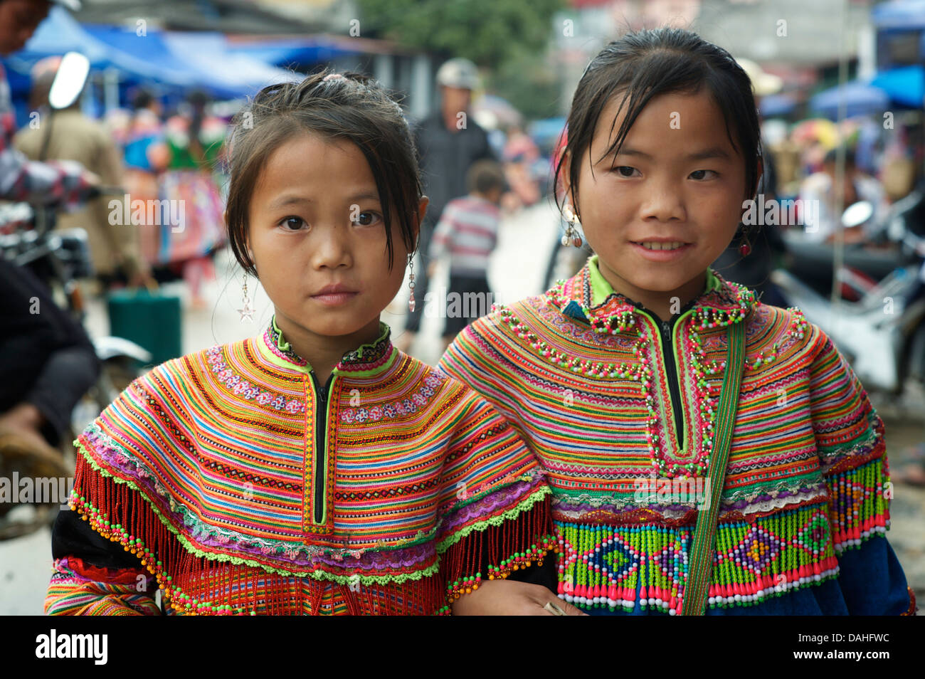
M 275 321 L 135 380 L 76 442 L 45 610 L 430 614 L 542 559 L 523 440 L 380 330 L 324 386 Z

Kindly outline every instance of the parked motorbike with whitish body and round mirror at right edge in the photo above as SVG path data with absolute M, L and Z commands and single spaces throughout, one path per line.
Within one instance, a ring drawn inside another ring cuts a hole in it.
M 831 282 L 822 285 L 833 258 L 831 246 L 802 242 L 799 234 L 785 237 L 791 265 L 771 274 L 792 305 L 819 326 L 845 354 L 866 389 L 901 394 L 909 377 L 925 382 L 925 239 L 922 224 L 911 218 L 922 197 L 897 202 L 881 224 L 870 224 L 870 204 L 845 210 L 845 227 L 863 228 L 882 249 L 860 244 L 845 247 L 845 264 L 838 282 L 857 301 L 833 307 Z

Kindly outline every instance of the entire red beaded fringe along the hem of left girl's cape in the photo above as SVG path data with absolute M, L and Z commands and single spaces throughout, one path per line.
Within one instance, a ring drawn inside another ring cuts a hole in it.
M 489 567 L 489 578 L 507 577 L 541 559 L 554 544 L 547 498 L 516 519 L 463 537 L 441 558 L 438 575 L 385 585 L 340 584 L 198 556 L 167 529 L 139 491 L 99 474 L 82 456 L 71 507 L 97 533 L 135 554 L 154 574 L 165 605 L 187 615 L 302 615 L 306 610 L 429 615 L 453 600 L 447 582 L 475 573 L 477 586 L 483 557 L 499 564 Z

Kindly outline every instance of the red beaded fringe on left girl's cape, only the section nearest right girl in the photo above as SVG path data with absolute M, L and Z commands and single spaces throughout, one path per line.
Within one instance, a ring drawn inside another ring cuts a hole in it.
M 453 601 L 478 589 L 483 569 L 489 580 L 501 580 L 533 562 L 541 565 L 546 553 L 559 544 L 552 532 L 549 506 L 547 496 L 516 519 L 473 531 L 447 549 L 440 559 L 447 605 L 438 614 L 449 615 Z

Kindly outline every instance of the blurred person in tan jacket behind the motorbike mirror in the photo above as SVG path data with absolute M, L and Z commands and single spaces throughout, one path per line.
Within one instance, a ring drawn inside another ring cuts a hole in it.
M 106 186 L 122 185 L 122 162 L 116 143 L 104 126 L 80 111 L 80 99 L 68 108 L 52 111 L 48 93 L 61 57 L 52 56 L 32 68 L 32 110 L 42 111 L 38 127 L 27 127 L 16 136 L 16 147 L 32 160 L 73 160 L 93 171 Z M 117 200 L 117 209 L 110 204 Z M 116 223 L 110 216 L 116 215 Z M 61 215 L 57 228 L 83 228 L 90 242 L 96 277 L 108 289 L 114 285 L 139 286 L 150 281 L 142 260 L 138 229 L 122 224 L 122 196 L 94 198 L 80 210 Z

